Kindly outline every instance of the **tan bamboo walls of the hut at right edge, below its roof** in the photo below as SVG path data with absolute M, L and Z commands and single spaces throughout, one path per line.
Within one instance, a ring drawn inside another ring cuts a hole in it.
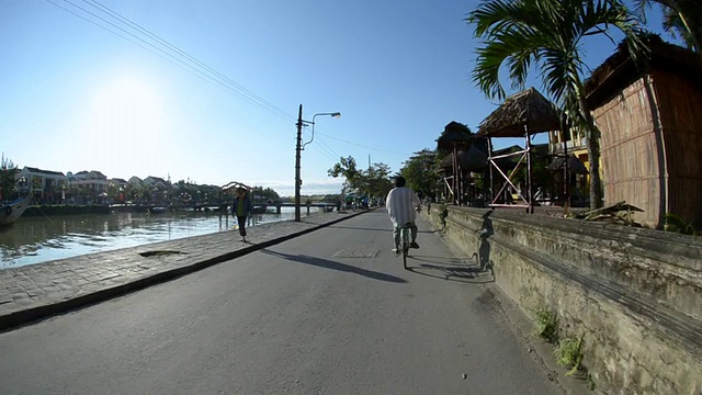
M 626 201 L 644 210 L 634 219 L 653 227 L 663 226 L 668 212 L 702 225 L 699 86 L 654 71 L 593 115 L 601 132 L 605 204 Z

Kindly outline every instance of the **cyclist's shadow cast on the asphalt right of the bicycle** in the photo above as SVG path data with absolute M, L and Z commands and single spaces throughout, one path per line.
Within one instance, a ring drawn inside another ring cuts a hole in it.
M 474 255 L 476 257 L 477 255 Z M 426 257 L 409 256 L 407 270 L 420 275 L 426 275 L 445 281 L 455 281 L 469 284 L 486 284 L 495 282 L 495 272 L 489 267 L 483 268 L 476 261 L 466 263 L 468 259 L 455 257 Z

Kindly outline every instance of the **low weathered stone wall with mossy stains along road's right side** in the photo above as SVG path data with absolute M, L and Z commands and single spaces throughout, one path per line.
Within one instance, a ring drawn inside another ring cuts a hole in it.
M 449 206 L 428 217 L 607 394 L 702 393 L 702 240 L 523 210 Z M 578 363 L 579 361 L 579 363 Z M 564 373 L 567 370 L 564 370 Z

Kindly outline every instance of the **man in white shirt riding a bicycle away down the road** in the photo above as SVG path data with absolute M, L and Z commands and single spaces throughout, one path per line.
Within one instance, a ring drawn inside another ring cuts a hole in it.
M 405 187 L 407 181 L 404 177 L 399 176 L 395 179 L 395 188 L 387 194 L 385 199 L 385 206 L 387 207 L 387 214 L 393 222 L 393 239 L 395 240 L 395 248 L 393 251 L 396 255 L 401 252 L 399 248 L 399 228 L 406 224 L 409 224 L 411 242 L 410 248 L 419 248 L 417 244 L 417 225 L 415 219 L 417 218 L 417 208 L 421 206 L 421 201 L 410 188 Z

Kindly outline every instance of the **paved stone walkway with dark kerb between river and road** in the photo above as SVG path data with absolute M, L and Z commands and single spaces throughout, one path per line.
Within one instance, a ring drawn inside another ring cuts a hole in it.
M 160 241 L 0 270 L 0 330 L 101 302 L 225 262 L 364 213 L 331 212 L 301 222 Z

